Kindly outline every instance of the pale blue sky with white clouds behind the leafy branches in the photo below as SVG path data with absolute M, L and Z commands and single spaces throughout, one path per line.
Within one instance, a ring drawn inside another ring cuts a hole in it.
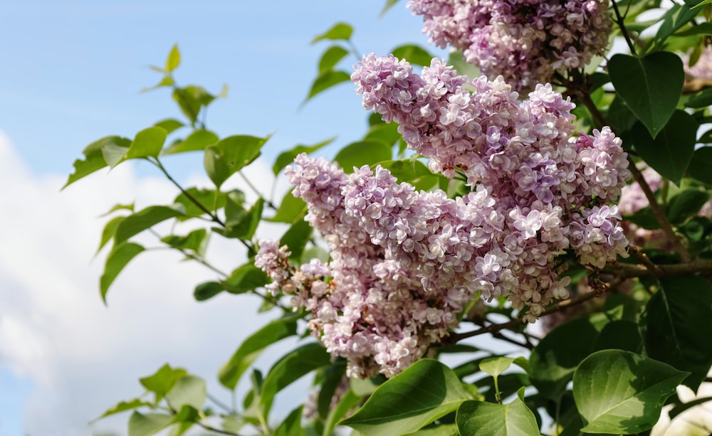
M 179 83 L 212 92 L 229 85 L 229 97 L 211 106 L 208 127 L 221 137 L 273 133 L 265 159 L 248 171 L 269 186 L 264 176 L 283 149 L 337 136 L 325 151 L 333 154 L 365 132 L 367 114 L 352 85 L 300 107 L 328 47 L 310 45 L 313 36 L 345 21 L 355 27 L 362 53 L 426 45 L 422 21 L 405 0 L 379 18 L 383 4 L 0 2 L 0 436 L 88 435 L 89 420 L 139 395 L 137 378 L 166 361 L 219 389 L 214 375 L 221 363 L 270 319 L 254 315 L 258 302 L 251 299 L 194 302 L 194 285 L 214 277 L 163 253 L 127 267 L 109 306 L 100 302 L 97 217 L 114 203 L 166 203 L 174 188 L 132 163 L 59 188 L 86 144 L 108 134 L 132 137 L 180 116 L 167 90 L 139 92 L 160 78 L 147 66 L 162 65 L 178 43 Z M 345 68 L 356 60 L 345 60 Z M 196 154 L 165 163 L 185 183 L 201 184 L 201 161 Z M 239 265 L 241 250 L 213 242 L 216 264 Z M 278 355 L 267 353 L 258 365 L 267 368 Z M 300 389 L 295 398 L 303 396 Z M 126 419 L 93 430 L 122 433 Z

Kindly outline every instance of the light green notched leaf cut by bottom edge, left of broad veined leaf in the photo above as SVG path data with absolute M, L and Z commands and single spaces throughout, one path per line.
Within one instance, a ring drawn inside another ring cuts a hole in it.
M 466 401 L 455 418 L 461 435 L 539 436 L 539 426 L 531 410 L 519 398 L 509 404 Z

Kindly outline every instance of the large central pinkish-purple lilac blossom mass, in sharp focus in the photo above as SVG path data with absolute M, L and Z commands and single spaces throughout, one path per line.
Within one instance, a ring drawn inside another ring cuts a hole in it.
M 398 122 L 410 149 L 433 171 L 462 174 L 471 192 L 417 191 L 381 166 L 347 175 L 305 154 L 286 172 L 332 260 L 293 267 L 286 247 L 263 241 L 256 265 L 273 294 L 312 313 L 309 328 L 347 358 L 350 376 L 402 371 L 477 296 L 506 297 L 533 322 L 568 296 L 557 265 L 626 255 L 612 202 L 630 176 L 627 154 L 608 127 L 572 137 L 574 105 L 550 85 L 520 102 L 502 78 L 468 82 L 440 60 L 417 75 L 375 55 L 352 80 L 366 109 Z

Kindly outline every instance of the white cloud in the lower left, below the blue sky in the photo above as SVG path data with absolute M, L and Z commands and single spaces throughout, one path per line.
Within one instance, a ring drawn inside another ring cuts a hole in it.
M 247 176 L 271 186 L 269 167 L 254 166 Z M 0 368 L 33 381 L 25 432 L 89 434 L 89 420 L 140 395 L 137 378 L 165 362 L 224 393 L 215 382 L 219 366 L 274 315 L 258 318 L 261 302 L 252 296 L 195 302 L 194 285 L 214 274 L 165 250 L 144 252 L 128 265 L 105 307 L 98 292 L 105 254 L 92 260 L 105 222 L 97 217 L 115 203 L 169 203 L 177 191 L 163 179 L 138 178 L 130 165 L 60 192 L 65 179 L 31 174 L 0 132 Z M 209 255 L 226 270 L 245 259 L 239 243 L 218 235 Z M 107 422 L 125 425 L 126 419 Z

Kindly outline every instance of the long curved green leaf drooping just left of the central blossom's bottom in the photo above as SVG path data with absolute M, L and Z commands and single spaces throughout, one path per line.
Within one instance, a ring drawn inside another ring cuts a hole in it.
M 276 319 L 251 334 L 239 346 L 230 360 L 218 374 L 220 383 L 228 389 L 234 389 L 242 374 L 249 368 L 263 349 L 281 339 L 297 334 L 298 315 Z

